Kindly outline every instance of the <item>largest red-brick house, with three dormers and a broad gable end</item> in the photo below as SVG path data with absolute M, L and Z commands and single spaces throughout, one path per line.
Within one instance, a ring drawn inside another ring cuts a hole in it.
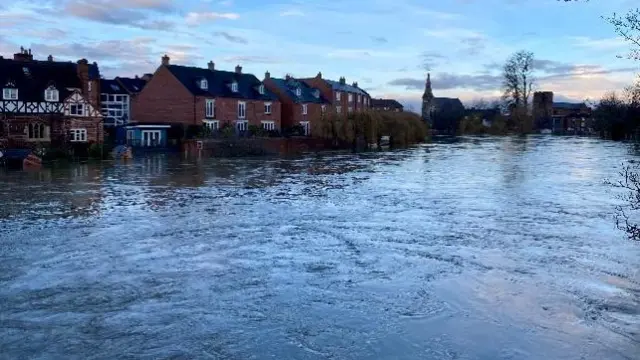
M 169 61 L 168 56 L 162 57 L 162 64 L 133 101 L 128 136 L 141 140 L 142 146 L 166 141 L 166 130 L 151 126 L 182 129 L 183 136 L 190 128 L 202 126 L 211 131 L 233 126 L 239 134 L 251 125 L 280 130 L 278 98 L 254 75 L 243 73 L 241 66 L 232 72 L 216 70 L 213 62 L 199 68 Z M 152 140 L 146 140 L 145 132 Z

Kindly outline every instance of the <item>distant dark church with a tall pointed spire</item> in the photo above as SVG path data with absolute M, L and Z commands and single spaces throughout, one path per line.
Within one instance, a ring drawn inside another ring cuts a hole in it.
M 424 121 L 436 132 L 455 134 L 463 117 L 464 105 L 460 99 L 433 96 L 431 74 L 427 74 L 422 95 L 422 118 Z

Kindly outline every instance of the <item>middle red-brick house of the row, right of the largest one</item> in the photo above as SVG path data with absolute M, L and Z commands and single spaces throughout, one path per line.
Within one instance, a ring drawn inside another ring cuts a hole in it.
M 311 135 L 322 120 L 322 115 L 331 106 L 320 89 L 314 89 L 304 81 L 287 75 L 284 79 L 272 78 L 265 73 L 264 85 L 276 94 L 282 103 L 282 128 L 300 125 L 305 135 Z

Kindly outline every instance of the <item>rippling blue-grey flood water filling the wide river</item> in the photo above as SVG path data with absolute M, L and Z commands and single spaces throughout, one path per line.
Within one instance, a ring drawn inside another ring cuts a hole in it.
M 0 173 L 0 358 L 640 359 L 628 144 Z

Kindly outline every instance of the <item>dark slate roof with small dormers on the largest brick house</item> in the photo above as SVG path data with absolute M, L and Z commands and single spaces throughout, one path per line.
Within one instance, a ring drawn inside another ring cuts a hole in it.
M 278 100 L 276 95 L 264 89 L 258 91 L 262 84 L 253 74 L 237 73 L 222 70 L 209 70 L 191 66 L 166 65 L 166 68 L 195 96 L 214 96 L 251 100 Z M 207 80 L 207 89 L 199 86 L 199 81 Z M 238 83 L 238 91 L 231 91 L 231 84 Z

